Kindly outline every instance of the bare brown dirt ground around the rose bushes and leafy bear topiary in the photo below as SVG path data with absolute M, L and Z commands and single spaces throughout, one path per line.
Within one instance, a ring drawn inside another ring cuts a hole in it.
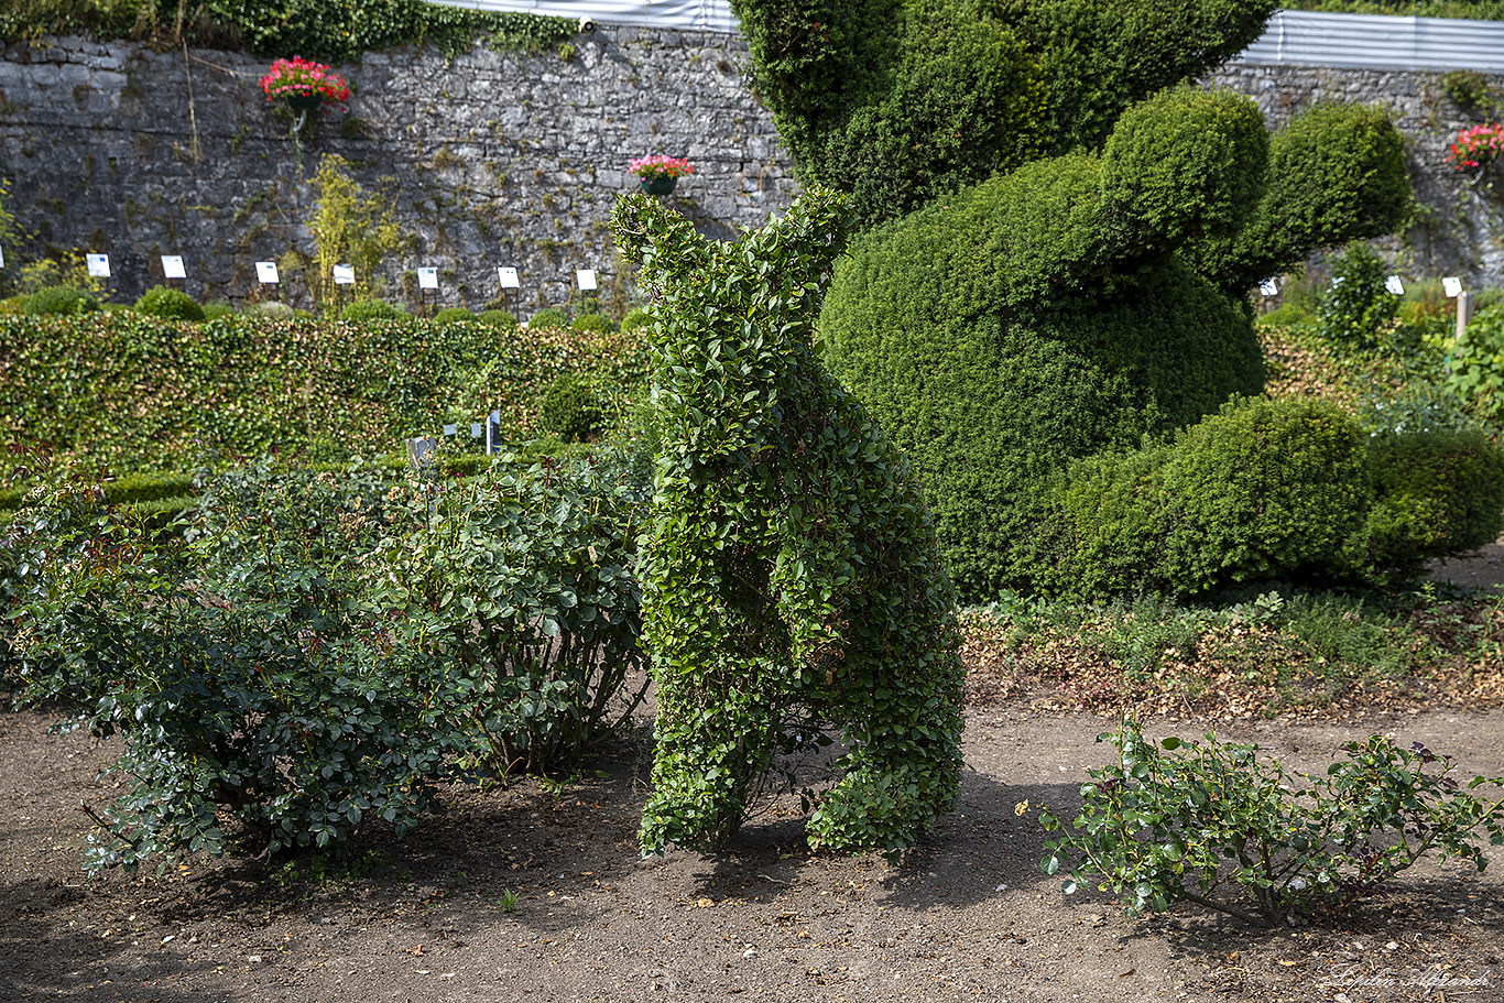
M 639 862 L 647 764 L 623 747 L 596 764 L 605 776 L 558 795 L 534 782 L 456 791 L 444 818 L 378 839 L 385 862 L 368 874 L 322 881 L 244 862 L 84 881 L 78 805 L 114 791 L 95 780 L 89 738 L 47 725 L 0 716 L 0 1000 L 1504 998 L 1499 848 L 1481 877 L 1427 866 L 1387 901 L 1272 932 L 1188 908 L 1136 922 L 1102 898 L 1063 898 L 1039 872 L 1033 814 L 1015 805 L 1074 805 L 1107 750 L 1099 717 L 979 708 L 963 809 L 898 868 L 811 859 L 781 809 L 719 857 Z M 1314 767 L 1372 731 L 1504 774 L 1498 711 L 1227 734 Z M 1427 997 L 1438 973 L 1475 985 Z

